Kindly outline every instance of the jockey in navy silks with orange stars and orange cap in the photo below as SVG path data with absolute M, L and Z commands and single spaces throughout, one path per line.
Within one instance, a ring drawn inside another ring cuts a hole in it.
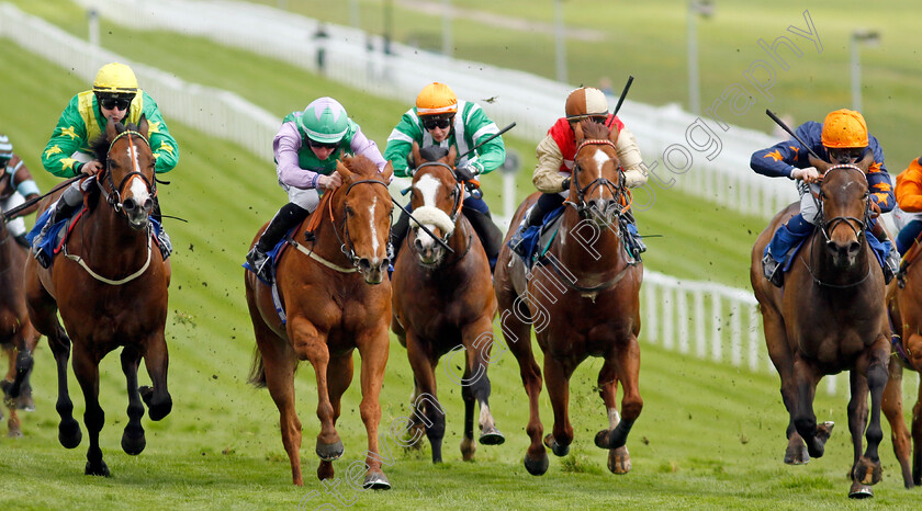
M 867 123 L 861 113 L 844 109 L 836 110 L 827 115 L 823 124 L 813 121 L 801 124 L 797 128 L 797 135 L 810 146 L 813 152 L 824 156 L 832 164 L 855 163 L 869 152 L 874 157 L 874 162 L 867 171 L 872 208 L 879 213 L 887 213 L 893 208 L 896 201 L 890 174 L 884 167 L 884 150 L 877 138 L 868 135 Z M 800 213 L 794 215 L 787 224 L 775 231 L 762 259 L 765 277 L 780 287 L 784 283 L 782 269 L 788 252 L 807 239 L 817 224 L 819 212 L 813 194 L 819 193 L 820 186 L 816 181 L 822 173 L 811 166 L 809 151 L 795 139 L 755 151 L 750 167 L 772 178 L 785 177 L 800 180 L 797 185 L 800 192 Z M 822 172 L 824 171 L 825 169 L 822 169 Z M 880 224 L 872 219 L 872 234 L 877 240 L 885 242 L 888 241 L 887 231 Z M 884 277 L 887 283 L 899 270 L 899 254 L 891 245 L 884 265 Z

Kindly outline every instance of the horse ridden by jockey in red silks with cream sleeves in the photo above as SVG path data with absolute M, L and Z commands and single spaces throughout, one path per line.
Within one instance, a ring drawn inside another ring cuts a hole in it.
M 643 265 L 628 261 L 619 225 L 629 205 L 629 192 L 615 150 L 618 130 L 609 132 L 605 125 L 586 120 L 575 126 L 574 133 L 577 149 L 570 195 L 547 263 L 529 271 L 508 247 L 515 227 L 538 193 L 519 206 L 506 235 L 495 273 L 499 322 L 528 394 L 526 432 L 531 444 L 525 454 L 526 469 L 532 475 L 547 472 L 546 446 L 558 456 L 569 452 L 573 441 L 570 377 L 588 356 L 599 356 L 604 364 L 598 388 L 608 428 L 596 434 L 595 444 L 609 451 L 610 472 L 627 474 L 631 468 L 627 438 L 643 408 L 637 340 Z M 541 370 L 531 351 L 532 325 L 544 352 L 544 377 L 554 412 L 553 431 L 543 444 L 538 409 Z M 618 383 L 623 388 L 623 416 L 618 413 L 616 402 Z

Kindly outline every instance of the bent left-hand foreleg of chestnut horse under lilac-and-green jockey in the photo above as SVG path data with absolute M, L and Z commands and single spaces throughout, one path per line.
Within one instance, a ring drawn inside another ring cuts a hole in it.
M 333 404 L 329 400 L 327 383 L 329 349 L 326 337 L 303 316 L 292 315 L 289 316 L 288 334 L 297 357 L 307 360 L 314 366 L 314 375 L 317 378 L 317 419 L 321 421 L 315 451 L 322 461 L 333 462 L 342 456 L 345 448 L 333 424 Z

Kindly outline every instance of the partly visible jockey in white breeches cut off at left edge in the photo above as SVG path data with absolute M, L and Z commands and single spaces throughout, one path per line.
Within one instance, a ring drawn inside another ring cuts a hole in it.
M 38 196 L 38 185 L 29 173 L 25 163 L 13 152 L 13 145 L 7 135 L 0 134 L 0 213 L 8 212 L 26 200 Z M 29 248 L 25 240 L 25 215 L 38 208 L 38 203 L 21 211 L 15 219 L 7 223 L 7 228 L 16 242 Z

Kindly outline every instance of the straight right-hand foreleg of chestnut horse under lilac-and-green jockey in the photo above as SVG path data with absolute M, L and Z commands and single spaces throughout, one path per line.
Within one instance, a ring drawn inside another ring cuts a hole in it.
M 391 482 L 384 475 L 381 464 L 384 463 L 387 466 L 394 464 L 393 453 L 386 439 L 384 439 L 384 447 L 386 448 L 384 457 L 380 454 L 378 445 L 378 424 L 381 422 L 379 399 L 381 397 L 381 386 L 384 384 L 384 367 L 387 365 L 390 341 L 387 327 L 383 322 L 378 331 L 371 332 L 358 341 L 359 354 L 362 357 L 362 402 L 359 405 L 359 410 L 368 432 L 368 453 L 366 456 L 368 470 L 362 487 L 374 490 L 391 488 Z M 442 429 L 445 429 L 445 425 L 442 425 Z

